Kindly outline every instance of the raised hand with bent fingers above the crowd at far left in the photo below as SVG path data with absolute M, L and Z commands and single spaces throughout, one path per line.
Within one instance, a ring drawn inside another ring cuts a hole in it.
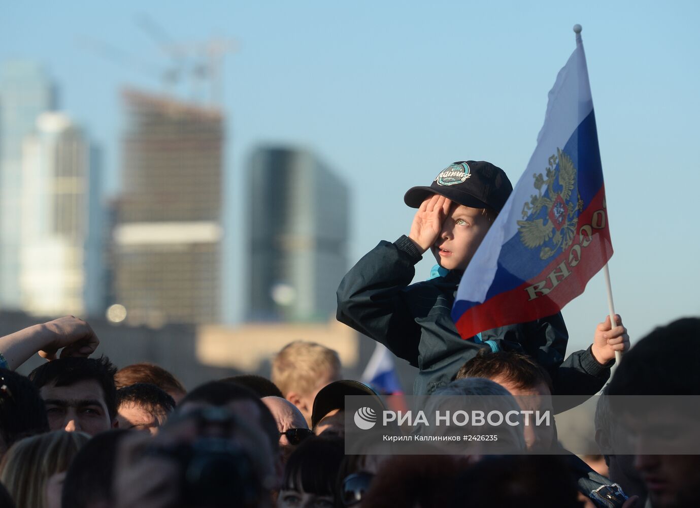
M 48 360 L 56 359 L 56 352 L 61 348 L 62 358 L 88 357 L 99 345 L 99 338 L 90 325 L 75 316 L 59 317 L 41 326 L 48 337 L 39 356 Z

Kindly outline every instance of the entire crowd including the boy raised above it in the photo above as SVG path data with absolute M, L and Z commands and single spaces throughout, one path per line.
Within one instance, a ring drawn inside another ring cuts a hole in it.
M 368 397 L 378 411 L 386 397 L 344 378 L 332 349 L 293 341 L 271 359 L 269 379 L 188 390 L 161 366 L 94 355 L 99 339 L 71 316 L 0 337 L 0 508 L 699 506 L 700 319 L 630 348 L 622 320 L 607 317 L 590 347 L 568 356 L 561 313 L 457 333 L 459 277 L 510 191 L 498 167 L 475 161 L 410 189 L 405 201 L 418 211 L 409 235 L 380 242 L 350 270 L 337 317 L 418 367 L 413 392 L 438 407 L 498 397 L 518 414 L 556 414 L 603 390 L 597 456 L 568 452 L 556 425 L 521 420 L 470 427 L 501 432 L 510 453 L 486 440 L 465 453 L 347 453 L 347 425 L 358 420 L 346 397 Z M 411 284 L 428 249 L 438 266 Z M 624 356 L 610 379 L 616 352 Z M 26 377 L 15 371 L 37 353 L 48 362 Z

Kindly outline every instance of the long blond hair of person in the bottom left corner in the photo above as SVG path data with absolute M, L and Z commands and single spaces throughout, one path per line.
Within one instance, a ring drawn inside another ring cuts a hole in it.
M 46 482 L 68 470 L 78 450 L 90 440 L 84 432 L 56 430 L 20 439 L 0 462 L 0 481 L 16 508 L 44 508 Z

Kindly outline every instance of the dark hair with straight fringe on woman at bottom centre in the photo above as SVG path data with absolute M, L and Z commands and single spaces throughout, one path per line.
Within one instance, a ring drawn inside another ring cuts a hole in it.
M 312 436 L 304 439 L 287 460 L 282 490 L 303 490 L 335 497 L 335 481 L 343 457 L 342 438 Z

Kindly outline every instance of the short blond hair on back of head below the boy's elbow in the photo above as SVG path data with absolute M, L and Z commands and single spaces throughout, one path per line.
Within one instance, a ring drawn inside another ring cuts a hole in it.
M 272 360 L 272 383 L 285 397 L 292 391 L 309 395 L 329 373 L 339 372 L 338 353 L 315 342 L 288 343 Z

